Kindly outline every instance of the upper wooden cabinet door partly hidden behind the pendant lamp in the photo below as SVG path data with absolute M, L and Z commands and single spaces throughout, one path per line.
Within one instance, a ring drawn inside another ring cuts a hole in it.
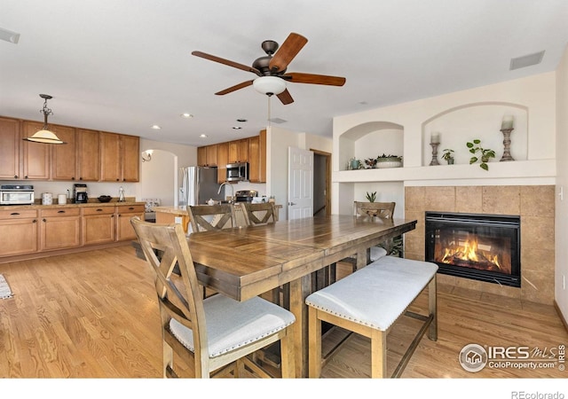
M 43 123 L 24 121 L 23 137 L 30 137 L 43 129 Z M 50 178 L 50 146 L 22 140 L 22 177 L 24 180 L 49 180 Z

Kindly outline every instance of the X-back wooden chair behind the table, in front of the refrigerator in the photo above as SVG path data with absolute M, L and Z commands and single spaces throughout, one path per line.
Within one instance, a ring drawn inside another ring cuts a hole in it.
M 192 231 L 220 230 L 236 226 L 231 204 L 189 206 L 187 213 Z

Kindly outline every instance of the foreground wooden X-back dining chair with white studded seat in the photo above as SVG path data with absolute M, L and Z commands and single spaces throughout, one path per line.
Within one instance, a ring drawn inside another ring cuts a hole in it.
M 155 272 L 164 378 L 185 374 L 221 377 L 232 371 L 233 376 L 242 377 L 245 366 L 258 376 L 271 377 L 251 360 L 251 355 L 279 340 L 281 376 L 294 377 L 292 313 L 259 297 L 241 302 L 217 293 L 203 300 L 181 225 L 147 223 L 138 216 L 130 223 Z M 160 259 L 155 249 L 161 251 Z M 176 264 L 180 276 L 172 273 Z

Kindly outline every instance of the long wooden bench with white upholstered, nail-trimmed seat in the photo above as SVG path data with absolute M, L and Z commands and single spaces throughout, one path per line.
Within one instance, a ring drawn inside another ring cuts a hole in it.
M 337 325 L 371 340 L 371 377 L 387 375 L 387 334 L 403 315 L 422 320 L 422 328 L 406 350 L 392 377 L 399 377 L 428 329 L 430 340 L 438 340 L 436 318 L 436 272 L 432 262 L 383 256 L 331 286 L 306 298 L 309 328 L 309 373 L 321 373 L 321 322 Z M 406 309 L 428 286 L 429 315 Z

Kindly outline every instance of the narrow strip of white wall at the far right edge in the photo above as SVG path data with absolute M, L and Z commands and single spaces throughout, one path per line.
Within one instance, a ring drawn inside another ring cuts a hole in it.
M 555 300 L 568 320 L 568 47 L 556 70 L 556 269 Z

